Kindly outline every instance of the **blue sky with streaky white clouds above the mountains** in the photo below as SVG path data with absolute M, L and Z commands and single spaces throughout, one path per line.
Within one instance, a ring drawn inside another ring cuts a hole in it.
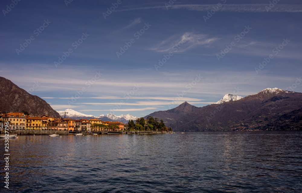
M 141 117 L 302 92 L 301 1 L 16 2 L 0 3 L 0 76 L 55 110 Z

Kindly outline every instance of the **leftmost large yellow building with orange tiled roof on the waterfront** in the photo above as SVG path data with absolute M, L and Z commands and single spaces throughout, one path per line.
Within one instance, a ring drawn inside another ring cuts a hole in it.
M 24 113 L 6 113 L 2 116 L 2 121 L 9 121 L 9 129 L 25 129 L 26 117 Z

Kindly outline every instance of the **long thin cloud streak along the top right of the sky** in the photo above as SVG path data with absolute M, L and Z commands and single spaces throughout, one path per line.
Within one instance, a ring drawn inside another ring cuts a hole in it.
M 172 5 L 170 9 L 187 9 L 189 11 L 210 11 L 213 6 L 217 4 L 185 4 L 185 5 Z M 269 7 L 269 4 L 223 4 L 221 8 L 217 11 L 222 12 L 268 12 L 265 7 Z M 149 6 L 149 7 L 136 7 L 136 8 L 126 8 L 119 11 L 133 11 L 141 9 L 166 9 L 164 5 L 162 6 Z M 269 9 L 269 12 L 302 12 L 302 5 L 284 5 L 277 4 L 273 8 Z

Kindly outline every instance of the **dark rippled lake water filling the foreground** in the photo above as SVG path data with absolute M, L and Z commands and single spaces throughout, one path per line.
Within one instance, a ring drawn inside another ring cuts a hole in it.
M 301 192 L 302 131 L 9 139 L 0 192 Z

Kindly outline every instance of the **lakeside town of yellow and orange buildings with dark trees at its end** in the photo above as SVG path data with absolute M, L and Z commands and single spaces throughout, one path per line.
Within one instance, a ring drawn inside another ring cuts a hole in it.
M 48 115 L 31 116 L 27 111 L 21 113 L 3 113 L 0 111 L 0 121 L 9 122 L 9 130 L 52 130 L 52 131 L 69 131 L 78 132 L 85 131 L 101 132 L 101 131 L 124 131 L 124 130 L 171 130 L 165 127 L 162 120 L 158 121 L 157 118 L 148 117 L 138 118 L 136 124 L 133 120 L 129 120 L 128 124 L 119 121 L 102 121 L 101 119 L 70 119 L 70 118 L 55 118 Z

